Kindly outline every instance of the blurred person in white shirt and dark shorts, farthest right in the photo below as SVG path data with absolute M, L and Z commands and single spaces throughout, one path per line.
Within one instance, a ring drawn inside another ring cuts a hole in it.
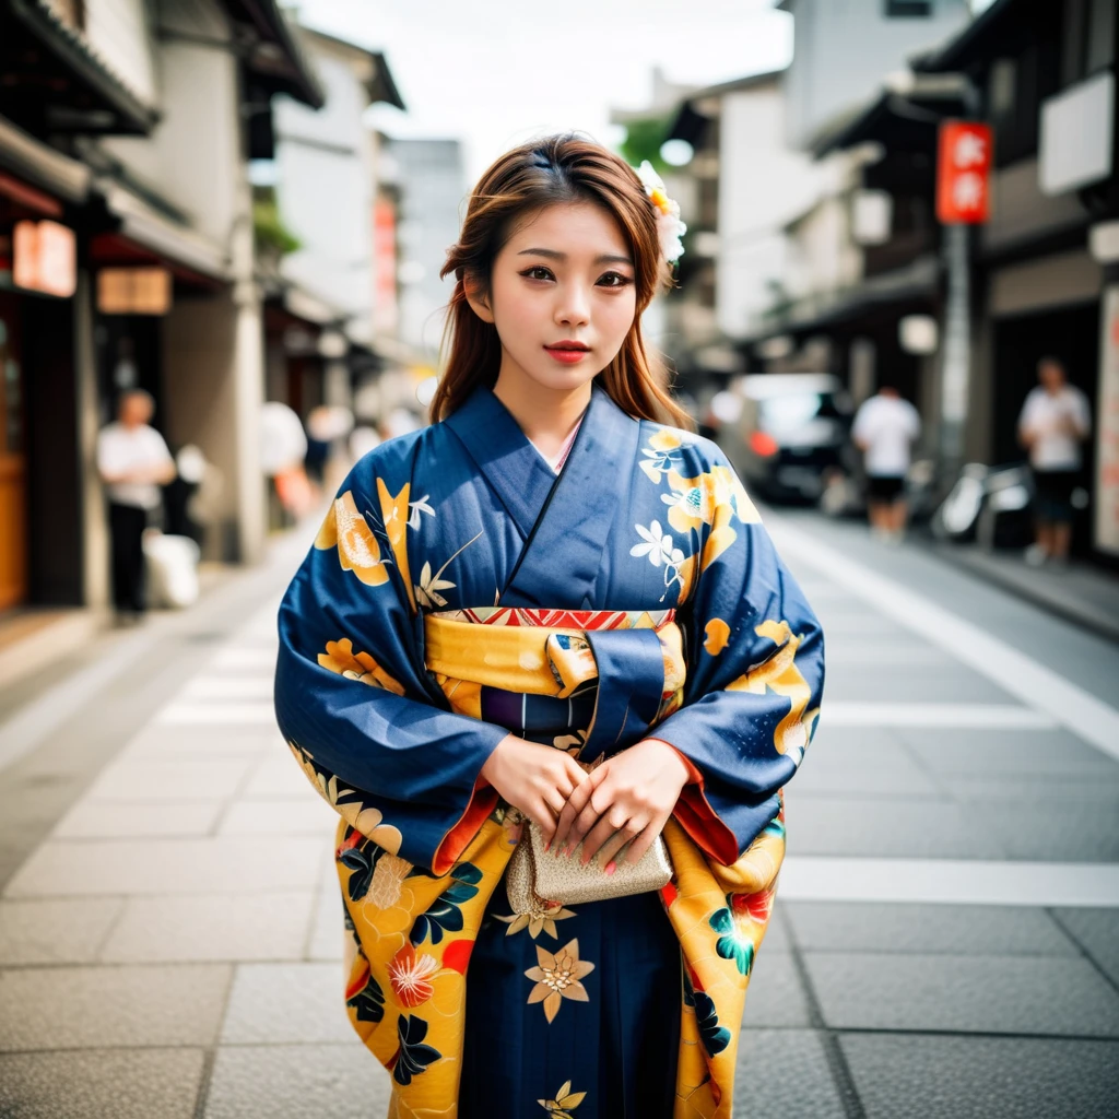
M 1088 397 L 1069 384 L 1055 357 L 1037 363 L 1037 379 L 1018 417 L 1018 439 L 1034 471 L 1036 539 L 1026 548 L 1026 563 L 1034 566 L 1069 558 L 1072 491 L 1083 464 L 1081 444 L 1092 429 Z

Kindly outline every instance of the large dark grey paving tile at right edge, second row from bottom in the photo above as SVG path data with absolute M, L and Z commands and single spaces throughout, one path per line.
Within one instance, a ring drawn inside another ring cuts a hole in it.
M 805 952 L 836 1029 L 1119 1037 L 1119 994 L 1083 959 Z

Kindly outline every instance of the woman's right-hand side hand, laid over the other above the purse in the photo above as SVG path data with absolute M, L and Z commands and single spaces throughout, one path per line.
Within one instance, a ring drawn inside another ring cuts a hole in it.
M 574 850 L 583 844 L 583 862 L 600 850 L 612 874 L 619 850 L 632 840 L 626 859 L 638 862 L 671 816 L 688 768 L 667 742 L 643 739 L 592 770 L 567 799 L 554 843 Z M 561 850 L 562 854 L 562 850 Z

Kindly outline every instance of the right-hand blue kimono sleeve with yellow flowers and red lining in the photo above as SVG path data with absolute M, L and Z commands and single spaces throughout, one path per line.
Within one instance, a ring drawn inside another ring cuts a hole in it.
M 689 764 L 680 824 L 730 865 L 778 815 L 815 731 L 824 633 L 742 483 L 713 454 L 715 464 L 689 480 L 703 495 L 703 532 L 683 619 L 684 705 L 650 735 Z

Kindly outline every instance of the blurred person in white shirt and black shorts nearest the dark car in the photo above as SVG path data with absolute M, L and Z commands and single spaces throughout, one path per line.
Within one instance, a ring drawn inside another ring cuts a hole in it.
M 852 438 L 863 452 L 871 532 L 896 544 L 905 533 L 905 473 L 921 434 L 918 411 L 892 385 L 883 385 L 855 415 Z

